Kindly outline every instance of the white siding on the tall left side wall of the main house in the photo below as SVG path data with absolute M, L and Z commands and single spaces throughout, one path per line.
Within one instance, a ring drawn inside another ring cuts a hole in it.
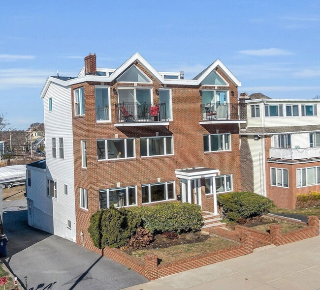
M 52 98 L 52 112 L 49 112 L 48 99 Z M 52 200 L 54 234 L 76 241 L 74 169 L 71 89 L 51 83 L 44 98 L 44 124 L 46 132 L 47 178 L 57 181 L 57 198 Z M 52 138 L 56 138 L 57 158 L 52 157 Z M 64 138 L 64 159 L 59 156 L 59 138 Z M 68 195 L 64 194 L 64 184 L 68 185 Z M 66 221 L 71 221 L 71 230 Z

